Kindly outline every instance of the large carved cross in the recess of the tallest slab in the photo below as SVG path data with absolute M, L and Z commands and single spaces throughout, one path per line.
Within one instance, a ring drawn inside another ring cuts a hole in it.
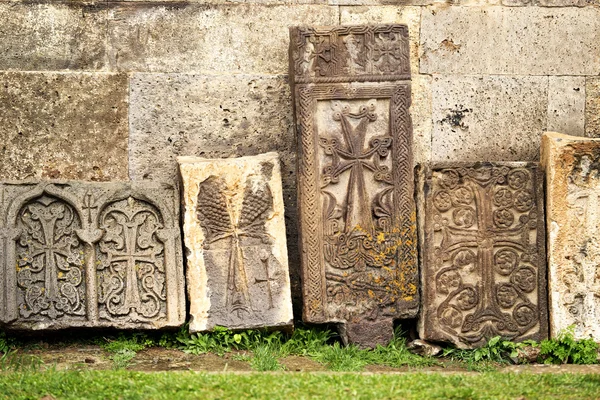
M 336 111 L 333 119 L 340 121 L 344 143 L 337 139 L 321 137 L 319 145 L 325 154 L 331 155 L 331 164 L 323 170 L 324 187 L 331 183 L 339 182 L 340 175 L 349 171 L 348 190 L 346 195 L 345 232 L 350 233 L 359 227 L 368 234 L 373 234 L 373 218 L 370 198 L 367 193 L 364 170 L 371 172 L 380 171 L 379 158 L 384 158 L 392 144 L 390 136 L 376 136 L 369 142 L 365 149 L 367 126 L 377 119 L 375 104 L 362 106 L 358 113 L 349 110 Z M 350 120 L 358 120 L 356 127 Z M 373 160 L 375 154 L 379 155 Z

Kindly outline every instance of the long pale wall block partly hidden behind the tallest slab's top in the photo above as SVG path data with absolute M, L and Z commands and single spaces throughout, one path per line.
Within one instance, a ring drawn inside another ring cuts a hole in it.
M 285 74 L 287 26 L 338 20 L 328 6 L 130 3 L 110 10 L 109 59 L 128 71 Z

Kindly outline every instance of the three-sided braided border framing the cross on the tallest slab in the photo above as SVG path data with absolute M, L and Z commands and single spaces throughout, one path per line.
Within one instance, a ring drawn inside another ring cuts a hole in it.
M 323 255 L 322 209 L 319 201 L 319 174 L 317 141 L 314 127 L 318 100 L 389 99 L 390 134 L 392 140 L 394 184 L 393 227 L 400 232 L 401 244 L 397 265 L 408 284 L 415 287 L 413 296 L 398 299 L 396 317 L 414 317 L 418 310 L 419 294 L 416 252 L 416 213 L 414 204 L 414 177 L 412 160 L 412 125 L 409 115 L 410 82 L 355 84 L 296 85 L 296 117 L 299 133 L 298 196 L 300 213 L 300 247 L 304 320 L 326 322 L 325 261 Z

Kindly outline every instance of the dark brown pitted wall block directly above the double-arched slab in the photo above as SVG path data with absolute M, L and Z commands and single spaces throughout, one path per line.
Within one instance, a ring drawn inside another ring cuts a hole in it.
M 0 73 L 3 179 L 127 179 L 127 76 Z

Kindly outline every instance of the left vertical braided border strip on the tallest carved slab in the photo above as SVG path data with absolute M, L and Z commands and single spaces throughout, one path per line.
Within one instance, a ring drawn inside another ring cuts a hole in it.
M 304 313 L 307 321 L 319 321 L 324 316 L 325 271 L 323 269 L 321 235 L 311 232 L 320 226 L 318 211 L 318 183 L 316 152 L 313 132 L 313 112 L 316 100 L 312 88 L 298 87 L 299 135 L 301 142 L 300 161 L 300 212 L 302 235 L 302 264 L 304 281 Z

